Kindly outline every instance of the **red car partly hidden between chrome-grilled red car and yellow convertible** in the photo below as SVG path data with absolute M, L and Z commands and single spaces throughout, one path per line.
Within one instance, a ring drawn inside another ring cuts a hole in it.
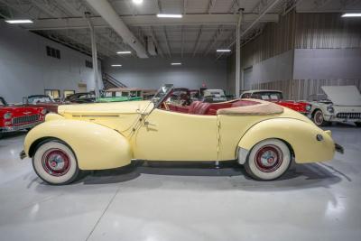
M 58 113 L 58 107 L 61 104 L 61 102 L 56 102 L 50 96 L 46 95 L 33 95 L 29 97 L 23 97 L 23 105 L 27 107 L 43 107 L 48 113 Z

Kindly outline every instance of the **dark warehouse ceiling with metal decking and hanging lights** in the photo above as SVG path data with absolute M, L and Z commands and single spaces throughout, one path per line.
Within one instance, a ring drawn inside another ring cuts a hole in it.
M 266 23 L 277 22 L 280 14 L 294 8 L 303 13 L 361 9 L 360 0 L 143 0 L 142 5 L 134 5 L 132 0 L 108 1 L 134 36 L 144 46 L 146 42 L 153 42 L 163 58 L 208 56 L 218 59 L 221 55 L 216 50 L 231 48 L 236 40 L 240 8 L 244 9 L 243 43 L 262 32 Z M 255 23 L 265 10 L 267 13 Z M 30 18 L 34 23 L 24 24 L 23 28 L 90 53 L 85 12 L 90 13 L 96 29 L 100 58 L 122 58 L 116 51 L 132 51 L 85 0 L 0 0 L 0 17 Z M 183 18 L 156 18 L 160 13 L 183 14 Z M 222 56 L 227 57 L 227 54 Z

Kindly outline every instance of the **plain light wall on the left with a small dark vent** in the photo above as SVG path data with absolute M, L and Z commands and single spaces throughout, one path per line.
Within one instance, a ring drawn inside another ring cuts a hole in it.
M 47 45 L 60 50 L 60 60 L 46 55 Z M 61 95 L 64 89 L 78 91 L 79 83 L 94 88 L 93 70 L 85 67 L 85 60 L 91 57 L 0 22 L 0 96 L 8 102 L 48 88 L 60 89 Z

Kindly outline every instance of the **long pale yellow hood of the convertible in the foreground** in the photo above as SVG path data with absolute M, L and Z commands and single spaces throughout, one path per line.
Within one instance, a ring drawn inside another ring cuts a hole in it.
M 148 107 L 148 108 L 147 108 Z M 145 109 L 151 110 L 153 103 L 151 101 L 128 101 L 113 103 L 94 103 L 94 104 L 78 104 L 60 106 L 58 113 L 64 115 L 91 115 L 106 116 L 118 114 L 134 114 L 143 112 Z

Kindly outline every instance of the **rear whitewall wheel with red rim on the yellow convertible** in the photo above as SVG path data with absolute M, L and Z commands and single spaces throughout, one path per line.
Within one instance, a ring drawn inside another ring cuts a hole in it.
M 281 140 L 264 140 L 252 148 L 245 171 L 256 180 L 272 181 L 282 176 L 291 165 L 292 154 Z

